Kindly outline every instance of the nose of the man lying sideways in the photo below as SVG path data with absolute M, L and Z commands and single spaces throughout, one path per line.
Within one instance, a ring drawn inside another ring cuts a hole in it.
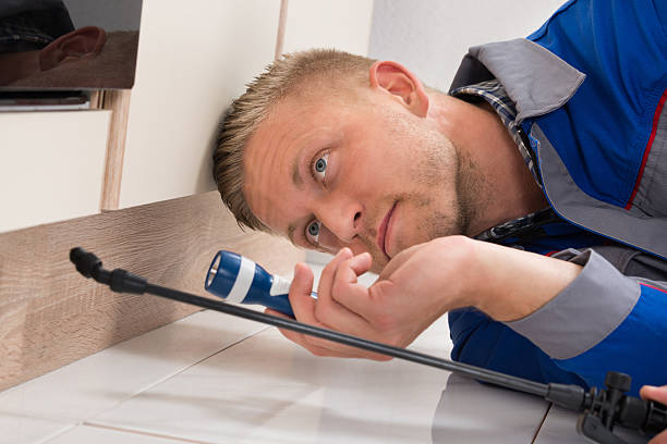
M 331 196 L 315 215 L 341 242 L 350 243 L 362 229 L 363 209 L 355 200 Z

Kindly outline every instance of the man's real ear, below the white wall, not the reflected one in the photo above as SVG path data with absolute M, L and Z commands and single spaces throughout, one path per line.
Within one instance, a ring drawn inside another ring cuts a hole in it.
M 377 61 L 369 70 L 371 87 L 383 89 L 397 98 L 415 115 L 428 113 L 428 95 L 422 82 L 397 62 Z

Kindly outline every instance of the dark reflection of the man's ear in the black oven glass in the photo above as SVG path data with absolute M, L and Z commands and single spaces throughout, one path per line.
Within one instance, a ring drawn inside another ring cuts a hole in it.
M 39 67 L 47 71 L 60 63 L 97 55 L 107 42 L 107 33 L 97 26 L 85 26 L 58 37 L 39 52 Z

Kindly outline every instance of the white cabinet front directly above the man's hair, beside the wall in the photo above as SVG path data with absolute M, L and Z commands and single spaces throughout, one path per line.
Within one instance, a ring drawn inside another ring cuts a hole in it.
M 283 52 L 336 48 L 368 54 L 373 0 L 289 0 Z

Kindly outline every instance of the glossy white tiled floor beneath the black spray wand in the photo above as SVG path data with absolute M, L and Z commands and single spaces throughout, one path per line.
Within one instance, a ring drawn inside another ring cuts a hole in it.
M 411 348 L 448 357 L 446 319 Z M 0 393 L 1 444 L 582 442 L 574 425 L 529 395 L 397 359 L 318 358 L 214 311 Z

